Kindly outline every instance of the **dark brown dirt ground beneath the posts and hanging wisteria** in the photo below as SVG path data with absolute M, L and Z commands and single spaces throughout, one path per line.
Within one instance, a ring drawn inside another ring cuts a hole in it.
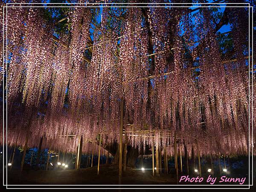
M 8 171 L 8 184 L 31 184 L 31 185 L 114 185 L 118 184 L 118 167 L 103 165 L 97 175 L 97 167 L 76 170 L 20 170 Z M 145 185 L 145 184 L 176 184 L 176 179 L 172 175 L 161 175 L 153 177 L 151 170 L 138 170 L 127 168 L 122 175 L 122 184 Z

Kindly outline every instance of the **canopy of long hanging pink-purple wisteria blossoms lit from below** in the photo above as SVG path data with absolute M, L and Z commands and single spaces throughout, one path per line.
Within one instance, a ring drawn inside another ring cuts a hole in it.
M 154 141 L 172 154 L 175 137 L 189 154 L 248 153 L 248 8 L 15 6 L 1 30 L 8 145 L 119 143 L 124 101 L 123 143 L 142 153 Z

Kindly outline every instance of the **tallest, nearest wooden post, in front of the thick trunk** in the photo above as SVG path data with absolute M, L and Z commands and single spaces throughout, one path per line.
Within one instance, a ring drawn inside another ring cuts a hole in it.
M 120 141 L 119 141 L 119 184 L 122 179 L 122 133 L 124 126 L 124 98 L 121 98 Z

